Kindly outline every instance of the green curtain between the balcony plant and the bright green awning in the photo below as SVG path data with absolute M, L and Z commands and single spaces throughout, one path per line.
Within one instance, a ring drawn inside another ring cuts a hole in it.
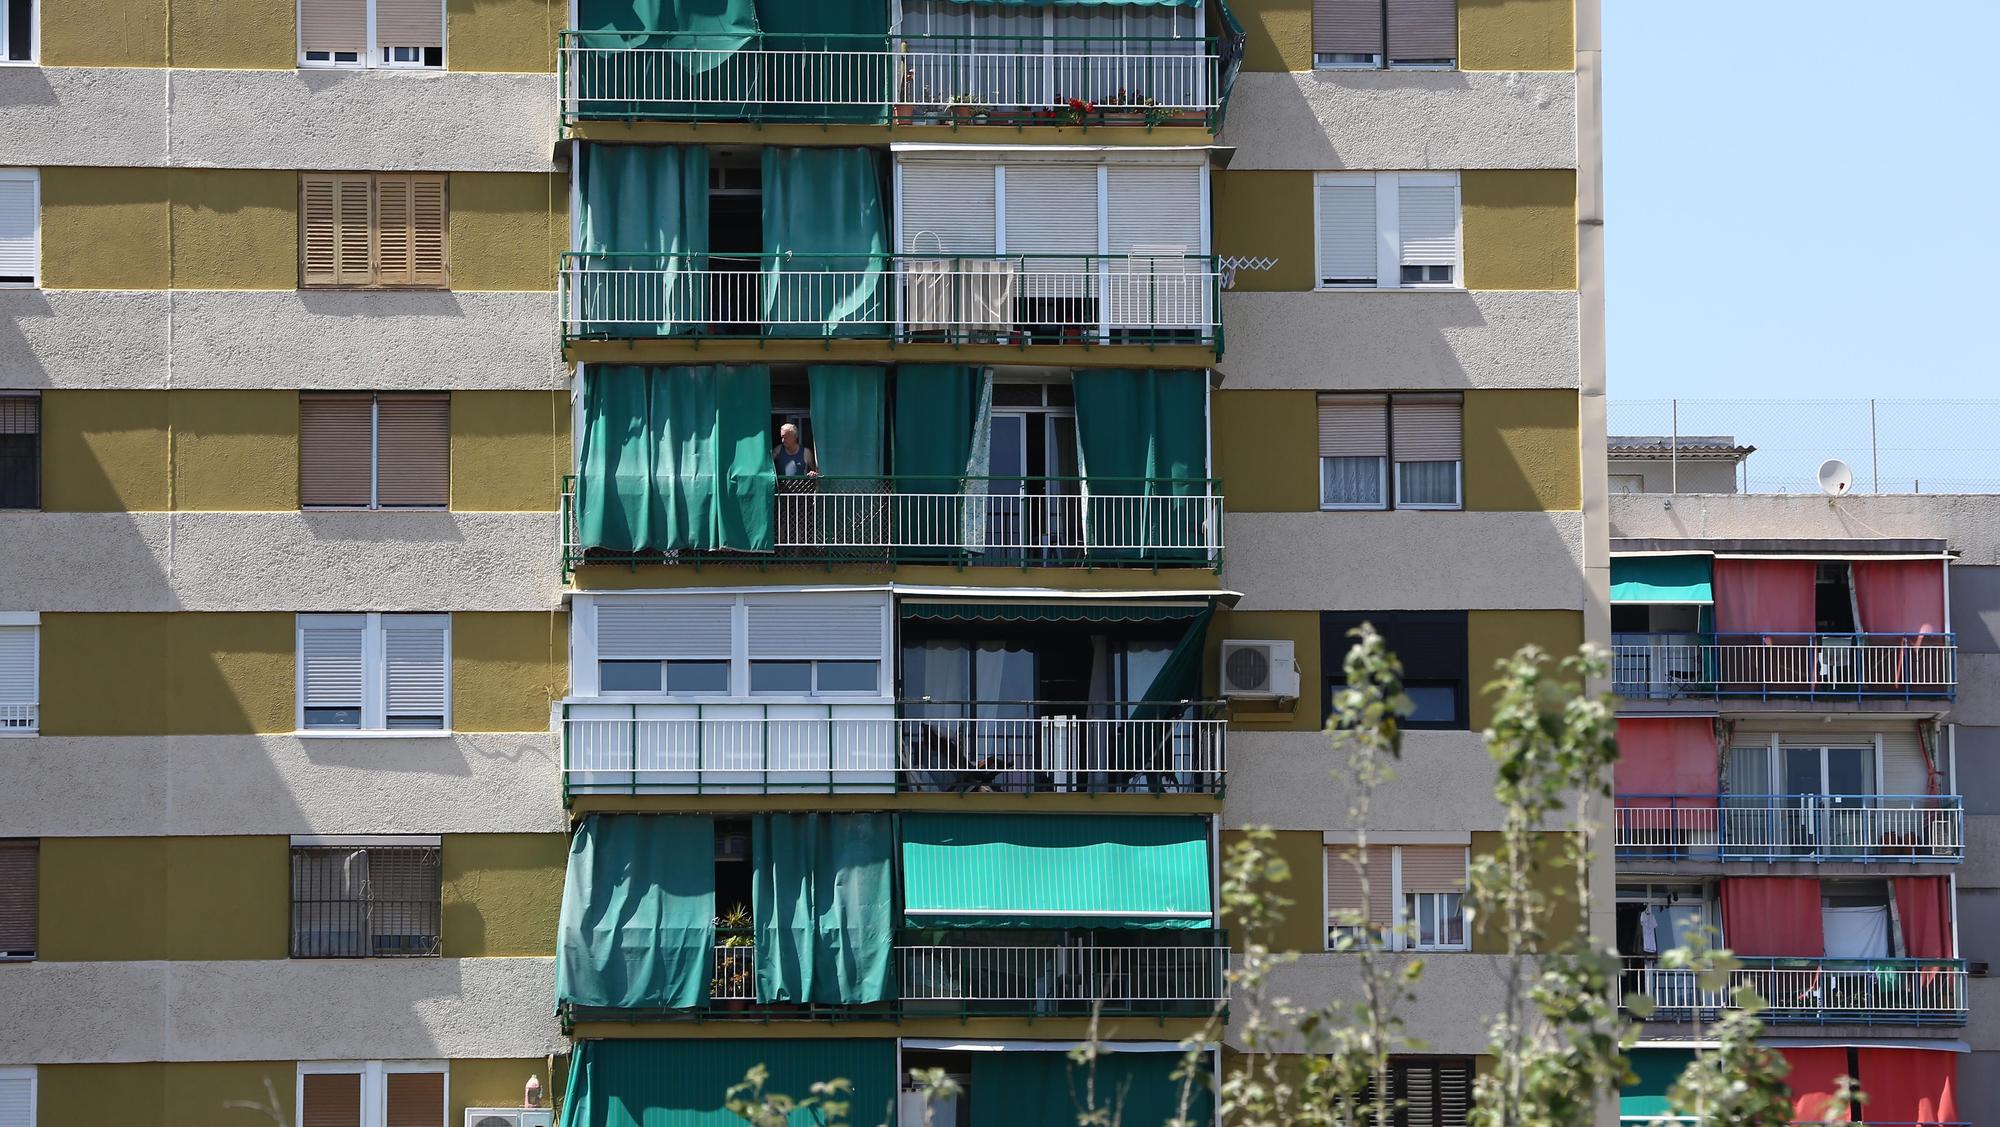
M 886 813 L 760 813 L 750 823 L 756 999 L 890 999 L 894 823 Z

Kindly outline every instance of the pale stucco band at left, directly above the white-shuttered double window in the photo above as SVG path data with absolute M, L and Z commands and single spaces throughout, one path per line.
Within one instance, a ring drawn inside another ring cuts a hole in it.
M 0 609 L 548 609 L 560 595 L 554 514 L 6 512 L 0 573 Z

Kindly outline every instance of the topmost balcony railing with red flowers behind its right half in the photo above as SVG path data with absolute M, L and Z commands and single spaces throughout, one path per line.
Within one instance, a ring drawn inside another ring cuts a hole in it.
M 616 34 L 562 32 L 566 126 L 610 120 L 1214 132 L 1224 96 L 1218 42 L 1192 36 L 812 34 L 756 36 L 740 48 L 734 36 L 716 46 L 624 42 Z M 1072 106 L 1072 98 L 1092 108 Z

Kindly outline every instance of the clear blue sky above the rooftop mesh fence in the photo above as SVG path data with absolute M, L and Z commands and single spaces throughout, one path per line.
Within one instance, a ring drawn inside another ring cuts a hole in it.
M 1994 0 L 1604 0 L 1612 400 L 2000 396 L 1996 40 Z

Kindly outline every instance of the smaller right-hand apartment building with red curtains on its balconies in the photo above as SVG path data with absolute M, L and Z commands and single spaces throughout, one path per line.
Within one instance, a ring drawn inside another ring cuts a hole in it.
M 1728 989 L 1766 999 L 1802 1121 L 1842 1075 L 1868 1091 L 1868 1123 L 1990 1115 L 1996 512 L 1980 496 L 1612 500 L 1616 941 L 1628 993 L 1654 1003 L 1628 1119 L 1664 1109 L 1728 1007 L 1660 965 L 1694 935 L 1738 955 Z

